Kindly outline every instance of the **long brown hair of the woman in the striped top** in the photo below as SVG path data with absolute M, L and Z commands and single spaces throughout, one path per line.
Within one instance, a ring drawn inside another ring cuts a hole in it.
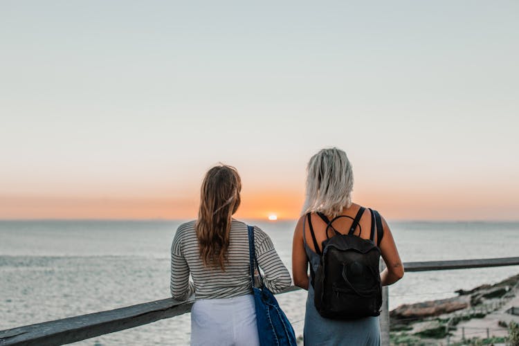
M 242 181 L 235 167 L 212 167 L 203 179 L 197 220 L 200 257 L 206 267 L 225 271 L 230 222 L 239 207 Z

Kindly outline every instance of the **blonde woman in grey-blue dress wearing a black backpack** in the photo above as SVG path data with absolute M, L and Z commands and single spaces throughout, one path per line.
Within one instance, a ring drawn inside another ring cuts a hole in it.
M 375 210 L 352 203 L 352 190 L 352 165 L 343 150 L 322 149 L 310 158 L 306 200 L 292 248 L 294 284 L 308 290 L 305 345 L 380 345 L 381 285 L 403 276 L 388 224 Z M 356 246 L 360 249 L 352 251 Z M 336 257 L 326 257 L 333 251 Z M 379 274 L 380 255 L 386 268 Z M 340 256 L 354 260 L 334 260 Z M 366 256 L 371 257 L 364 261 Z M 326 271 L 322 263 L 340 270 Z M 328 282 L 322 279 L 326 275 Z M 366 288 L 369 280 L 372 285 Z M 330 294 L 324 291 L 326 284 L 332 287 Z

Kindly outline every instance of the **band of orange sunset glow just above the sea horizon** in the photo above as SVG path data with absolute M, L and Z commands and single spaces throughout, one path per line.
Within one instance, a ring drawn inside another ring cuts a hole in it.
M 452 190 L 364 190 L 354 201 L 379 210 L 386 219 L 517 220 L 519 203 L 498 195 Z M 448 196 L 448 197 L 447 197 Z M 235 217 L 268 220 L 298 219 L 304 192 L 246 191 Z M 198 196 L 186 198 L 128 197 L 0 197 L 0 219 L 195 219 Z

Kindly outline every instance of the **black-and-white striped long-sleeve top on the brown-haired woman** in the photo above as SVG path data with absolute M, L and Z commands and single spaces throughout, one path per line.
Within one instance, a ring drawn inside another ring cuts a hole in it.
M 207 268 L 199 254 L 195 221 L 179 226 L 171 246 L 171 282 L 173 298 L 187 299 L 195 291 L 196 299 L 231 298 L 250 294 L 247 225 L 234 220 L 230 226 L 228 263 L 225 271 L 216 266 Z M 289 271 L 277 255 L 271 238 L 254 227 L 257 262 L 264 271 L 264 284 L 274 293 L 291 284 Z M 192 277 L 193 284 L 189 281 Z

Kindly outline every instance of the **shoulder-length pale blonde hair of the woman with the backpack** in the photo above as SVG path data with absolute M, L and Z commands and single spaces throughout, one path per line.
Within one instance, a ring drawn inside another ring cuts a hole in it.
M 336 217 L 352 205 L 353 170 L 343 150 L 322 149 L 307 166 L 306 198 L 302 214 L 322 212 Z

